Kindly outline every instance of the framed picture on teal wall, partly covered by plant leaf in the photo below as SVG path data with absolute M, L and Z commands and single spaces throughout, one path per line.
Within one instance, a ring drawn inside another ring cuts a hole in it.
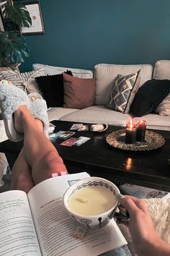
M 23 35 L 44 34 L 44 25 L 42 20 L 42 13 L 40 8 L 40 1 L 24 2 L 27 11 L 30 13 L 32 19 L 31 27 L 21 27 Z

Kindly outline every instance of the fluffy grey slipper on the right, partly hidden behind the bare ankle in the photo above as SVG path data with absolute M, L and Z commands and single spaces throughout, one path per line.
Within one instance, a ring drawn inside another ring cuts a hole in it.
M 44 128 L 44 134 L 46 137 L 48 137 L 48 127 L 49 127 L 49 121 L 48 121 L 48 107 L 46 104 L 46 101 L 42 98 L 36 98 L 36 100 L 30 102 L 30 112 L 32 116 L 35 116 L 35 118 L 40 119 L 43 123 Z

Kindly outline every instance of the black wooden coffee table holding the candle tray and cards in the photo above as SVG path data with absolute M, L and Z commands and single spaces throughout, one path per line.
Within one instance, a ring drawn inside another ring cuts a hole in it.
M 71 128 L 73 122 L 53 121 L 55 132 Z M 109 125 L 105 132 L 76 131 L 73 137 L 90 137 L 81 146 L 66 147 L 60 145 L 63 140 L 51 140 L 63 158 L 68 171 L 76 173 L 87 171 L 91 176 L 101 176 L 111 181 L 138 184 L 145 187 L 166 190 L 170 192 L 170 132 L 155 130 L 166 142 L 156 150 L 127 151 L 113 148 L 106 142 L 109 133 L 125 127 Z M 0 143 L 0 152 L 6 153 L 10 161 L 14 161 L 22 148 L 22 142 Z M 9 159 L 10 158 L 10 159 Z

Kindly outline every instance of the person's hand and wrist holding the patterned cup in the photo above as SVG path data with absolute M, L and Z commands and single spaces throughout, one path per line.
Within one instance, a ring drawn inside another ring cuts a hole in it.
M 169 256 L 170 244 L 156 233 L 146 202 L 126 195 L 120 199 L 120 204 L 130 214 L 129 229 L 138 256 Z

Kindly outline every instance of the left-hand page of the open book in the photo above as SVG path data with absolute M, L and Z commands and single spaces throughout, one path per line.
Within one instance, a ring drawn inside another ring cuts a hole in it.
M 25 192 L 0 194 L 0 255 L 41 255 Z

